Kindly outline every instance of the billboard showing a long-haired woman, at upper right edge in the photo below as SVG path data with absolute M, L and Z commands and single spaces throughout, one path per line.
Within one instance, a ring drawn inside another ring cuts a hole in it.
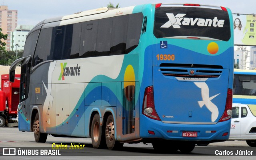
M 256 46 L 255 14 L 233 14 L 234 44 Z

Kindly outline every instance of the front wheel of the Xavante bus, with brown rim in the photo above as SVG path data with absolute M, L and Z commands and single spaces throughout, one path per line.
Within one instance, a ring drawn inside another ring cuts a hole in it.
M 40 133 L 40 121 L 39 121 L 39 115 L 36 113 L 36 117 L 33 122 L 33 132 L 36 142 L 44 143 L 47 139 L 47 133 Z

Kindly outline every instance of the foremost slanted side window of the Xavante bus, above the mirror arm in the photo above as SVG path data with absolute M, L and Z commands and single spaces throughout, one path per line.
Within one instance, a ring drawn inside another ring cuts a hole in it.
M 38 38 L 39 30 L 30 33 L 26 38 L 26 43 L 24 47 L 23 57 L 27 57 L 28 55 L 33 56 L 35 47 L 36 47 L 36 40 Z

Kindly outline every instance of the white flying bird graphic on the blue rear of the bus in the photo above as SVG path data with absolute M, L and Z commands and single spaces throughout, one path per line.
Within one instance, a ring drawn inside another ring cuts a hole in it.
M 194 82 L 194 84 L 201 89 L 202 101 L 198 101 L 199 106 L 202 108 L 204 105 L 212 113 L 212 122 L 214 122 L 219 115 L 218 107 L 212 103 L 212 99 L 217 97 L 219 94 L 216 94 L 212 97 L 209 97 L 209 87 L 205 82 Z

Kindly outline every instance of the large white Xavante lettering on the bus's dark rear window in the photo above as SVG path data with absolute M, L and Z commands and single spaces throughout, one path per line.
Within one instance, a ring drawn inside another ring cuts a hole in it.
M 186 14 L 177 14 L 174 16 L 172 13 L 167 13 L 169 21 L 164 23 L 160 28 L 169 28 L 170 26 L 174 28 L 180 28 L 180 25 L 198 25 L 198 26 L 208 26 L 208 27 L 223 27 L 225 20 L 218 20 L 217 17 L 214 19 L 203 19 L 203 18 L 184 18 Z

